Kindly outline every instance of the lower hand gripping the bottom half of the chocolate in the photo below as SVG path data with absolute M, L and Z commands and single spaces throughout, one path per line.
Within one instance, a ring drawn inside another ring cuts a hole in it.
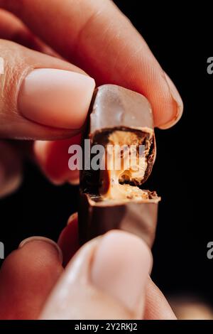
M 112 230 L 77 248 L 77 216 L 58 244 L 43 237 L 21 242 L 0 271 L 1 319 L 175 319 L 149 273 L 146 244 Z M 62 251 L 61 251 L 62 249 Z

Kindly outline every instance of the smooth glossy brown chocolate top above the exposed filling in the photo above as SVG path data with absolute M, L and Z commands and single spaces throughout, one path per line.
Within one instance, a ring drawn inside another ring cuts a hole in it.
M 102 85 L 94 92 L 90 133 L 116 126 L 153 129 L 151 104 L 143 95 L 117 85 Z

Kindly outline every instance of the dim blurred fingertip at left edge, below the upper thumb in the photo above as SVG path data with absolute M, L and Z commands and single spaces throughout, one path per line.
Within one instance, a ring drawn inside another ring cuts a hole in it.
M 0 141 L 0 198 L 16 190 L 21 180 L 21 156 L 11 144 Z

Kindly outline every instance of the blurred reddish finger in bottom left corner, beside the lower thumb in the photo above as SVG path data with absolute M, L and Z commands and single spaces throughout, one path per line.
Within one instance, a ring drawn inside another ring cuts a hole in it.
M 62 273 L 62 255 L 55 242 L 43 237 L 24 240 L 0 271 L 0 318 L 36 319 Z

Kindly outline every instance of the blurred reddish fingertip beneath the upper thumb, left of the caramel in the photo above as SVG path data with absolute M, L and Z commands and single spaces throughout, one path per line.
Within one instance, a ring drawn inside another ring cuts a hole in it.
M 61 141 L 35 141 L 33 152 L 35 160 L 45 176 L 56 185 L 69 182 L 79 183 L 79 171 L 71 171 L 68 166 L 69 147 L 81 142 L 80 134 Z

